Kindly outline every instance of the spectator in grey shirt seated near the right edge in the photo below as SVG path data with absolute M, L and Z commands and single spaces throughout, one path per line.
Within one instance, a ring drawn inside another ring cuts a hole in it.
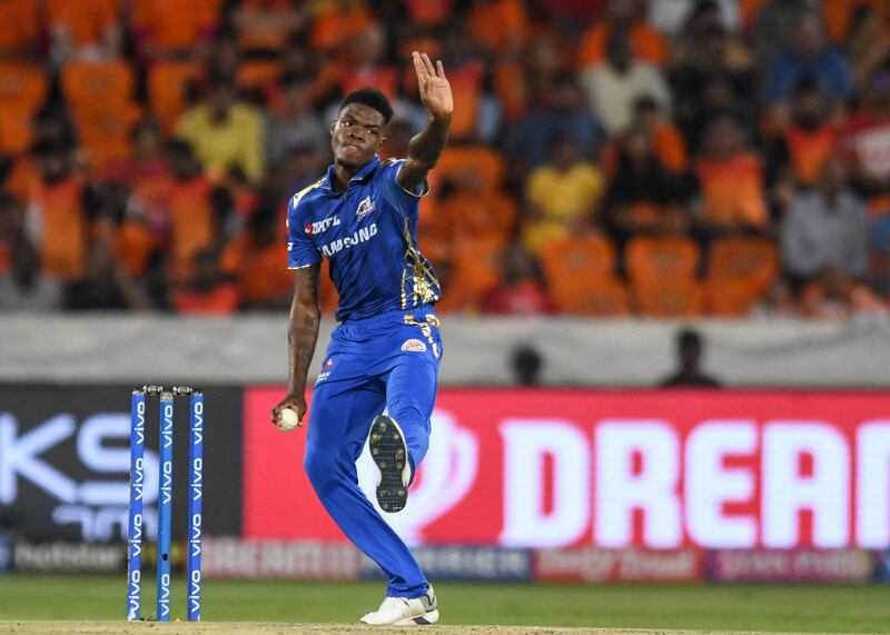
M 868 274 L 866 209 L 847 187 L 843 163 L 829 159 L 819 189 L 798 195 L 782 224 L 782 260 L 798 286 L 834 268 L 847 278 Z

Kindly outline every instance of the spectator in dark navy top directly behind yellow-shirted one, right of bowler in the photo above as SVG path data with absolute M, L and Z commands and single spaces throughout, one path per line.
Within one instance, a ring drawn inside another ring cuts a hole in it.
M 508 128 L 504 153 L 516 175 L 524 177 L 547 161 L 556 137 L 568 135 L 575 138 L 585 160 L 599 159 L 605 132 L 591 115 L 575 76 L 562 72 L 555 78 L 553 90 L 541 95 L 537 105 Z

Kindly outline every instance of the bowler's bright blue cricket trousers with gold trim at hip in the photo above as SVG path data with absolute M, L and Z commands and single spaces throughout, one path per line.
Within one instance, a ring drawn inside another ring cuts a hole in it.
M 429 441 L 441 358 L 431 307 L 347 320 L 334 329 L 313 393 L 304 467 L 343 533 L 389 576 L 389 596 L 419 597 L 426 578 L 358 487 L 356 460 L 386 408 L 405 435 L 414 475 Z

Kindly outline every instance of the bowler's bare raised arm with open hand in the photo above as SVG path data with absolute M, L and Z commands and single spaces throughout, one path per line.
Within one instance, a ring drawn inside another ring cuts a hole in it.
M 452 87 L 445 78 L 445 69 L 441 61 L 433 66 L 426 53 L 412 53 L 414 72 L 417 73 L 417 85 L 421 89 L 421 100 L 429 110 L 429 122 L 418 132 L 408 145 L 408 158 L 398 170 L 396 179 L 398 185 L 408 191 L 426 180 L 426 173 L 432 170 L 438 156 L 448 140 L 448 128 L 452 125 L 454 98 Z

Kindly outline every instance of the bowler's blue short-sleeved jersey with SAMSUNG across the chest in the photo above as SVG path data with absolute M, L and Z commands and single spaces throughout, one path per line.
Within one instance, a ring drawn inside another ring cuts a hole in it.
M 433 267 L 417 249 L 418 204 L 396 182 L 403 160 L 375 157 L 345 192 L 327 175 L 297 192 L 287 206 L 288 267 L 317 265 L 325 257 L 339 294 L 337 320 L 436 302 L 442 291 Z

